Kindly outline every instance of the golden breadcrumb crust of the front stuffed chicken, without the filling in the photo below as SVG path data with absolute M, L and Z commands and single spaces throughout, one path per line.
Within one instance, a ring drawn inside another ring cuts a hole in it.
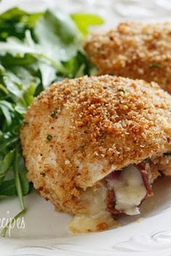
M 80 193 L 111 173 L 171 149 L 171 96 L 156 83 L 87 76 L 50 86 L 21 128 L 28 178 L 70 213 Z

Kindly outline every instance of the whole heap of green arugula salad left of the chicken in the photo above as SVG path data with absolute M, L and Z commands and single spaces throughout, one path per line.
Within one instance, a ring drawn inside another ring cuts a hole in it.
M 82 41 L 91 25 L 102 23 L 96 15 L 59 8 L 28 13 L 15 7 L 0 15 L 0 199 L 17 196 L 21 207 L 1 236 L 25 214 L 31 190 L 20 145 L 24 114 L 51 83 L 94 73 Z

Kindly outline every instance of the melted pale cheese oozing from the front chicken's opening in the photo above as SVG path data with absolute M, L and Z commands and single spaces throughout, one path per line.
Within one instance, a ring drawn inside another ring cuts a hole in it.
M 146 197 L 146 187 L 138 169 L 130 165 L 121 171 L 119 178 L 108 182 L 108 189 L 114 189 L 115 209 L 127 215 L 140 213 L 138 205 Z M 107 211 L 108 189 L 100 183 L 98 188 L 88 188 L 83 192 L 81 201 L 86 205 L 87 212 L 85 215 L 75 215 L 69 224 L 70 231 L 85 233 L 120 226 L 120 223 Z

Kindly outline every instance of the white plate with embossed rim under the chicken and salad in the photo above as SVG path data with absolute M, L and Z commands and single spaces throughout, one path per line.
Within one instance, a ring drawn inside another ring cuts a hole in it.
M 123 20 L 169 20 L 170 0 L 4 0 L 3 12 L 18 6 L 33 12 L 60 6 L 66 12 L 96 12 L 112 27 Z M 25 226 L 12 229 L 10 237 L 0 239 L 0 255 L 37 256 L 171 256 L 171 179 L 160 178 L 154 197 L 146 199 L 141 215 L 124 217 L 122 226 L 93 234 L 73 235 L 67 230 L 70 215 L 54 210 L 36 191 L 25 197 L 28 213 Z M 0 220 L 19 210 L 18 199 L 1 201 Z M 1 221 L 0 221 L 1 222 Z

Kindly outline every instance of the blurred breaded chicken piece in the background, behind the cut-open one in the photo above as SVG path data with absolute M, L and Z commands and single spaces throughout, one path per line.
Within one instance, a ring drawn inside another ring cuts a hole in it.
M 99 74 L 155 81 L 171 93 L 171 22 L 125 22 L 93 33 L 84 45 Z

